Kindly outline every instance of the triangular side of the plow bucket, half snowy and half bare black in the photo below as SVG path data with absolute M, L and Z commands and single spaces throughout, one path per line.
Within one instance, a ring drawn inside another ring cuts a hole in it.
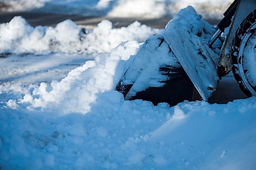
M 161 35 L 148 38 L 116 86 L 124 99 L 166 102 L 200 100 L 200 95 Z

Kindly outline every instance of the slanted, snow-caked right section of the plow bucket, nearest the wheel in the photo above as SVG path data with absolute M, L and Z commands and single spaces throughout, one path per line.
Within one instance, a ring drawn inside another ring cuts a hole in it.
M 214 27 L 193 7 L 187 7 L 169 21 L 163 33 L 204 101 L 216 90 L 220 80 L 216 70 L 219 53 L 207 43 L 214 32 Z

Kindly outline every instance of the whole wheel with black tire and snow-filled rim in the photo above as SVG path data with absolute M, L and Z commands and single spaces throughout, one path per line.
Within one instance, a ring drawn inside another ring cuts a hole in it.
M 247 96 L 256 96 L 256 10 L 239 26 L 231 45 L 234 78 Z

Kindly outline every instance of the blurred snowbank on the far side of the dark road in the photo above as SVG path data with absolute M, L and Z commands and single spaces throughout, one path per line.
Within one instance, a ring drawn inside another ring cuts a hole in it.
M 194 6 L 205 18 L 222 18 L 232 0 L 1 0 L 7 11 L 47 12 L 87 16 L 158 18 Z

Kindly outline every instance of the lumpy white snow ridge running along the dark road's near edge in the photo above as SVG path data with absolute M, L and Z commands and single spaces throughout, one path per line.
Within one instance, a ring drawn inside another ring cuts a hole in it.
M 53 27 L 31 27 L 22 17 L 0 25 L 0 53 L 49 54 L 49 53 L 106 53 L 122 41 L 144 42 L 161 30 L 152 29 L 139 22 L 114 29 L 112 22 L 103 20 L 93 30 L 65 20 Z

